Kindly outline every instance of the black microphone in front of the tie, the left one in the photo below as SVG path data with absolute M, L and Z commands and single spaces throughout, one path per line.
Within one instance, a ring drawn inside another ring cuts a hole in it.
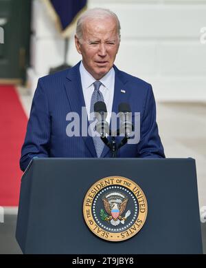
M 94 112 L 96 118 L 98 119 L 96 131 L 100 134 L 100 136 L 105 137 L 106 134 L 109 134 L 108 123 L 106 122 L 106 104 L 103 101 L 98 101 L 94 104 Z

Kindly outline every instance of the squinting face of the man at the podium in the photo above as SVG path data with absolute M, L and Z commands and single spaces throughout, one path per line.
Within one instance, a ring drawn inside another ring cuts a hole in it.
M 82 54 L 84 68 L 97 80 L 111 68 L 119 48 L 117 22 L 113 17 L 87 19 L 83 40 L 75 37 L 76 49 Z

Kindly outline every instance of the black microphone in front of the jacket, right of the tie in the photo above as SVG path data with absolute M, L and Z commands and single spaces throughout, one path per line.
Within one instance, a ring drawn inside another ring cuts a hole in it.
M 119 118 L 120 118 L 120 127 L 119 134 L 124 134 L 124 136 L 129 137 L 133 131 L 132 123 L 132 113 L 130 105 L 128 103 L 120 103 L 118 106 Z

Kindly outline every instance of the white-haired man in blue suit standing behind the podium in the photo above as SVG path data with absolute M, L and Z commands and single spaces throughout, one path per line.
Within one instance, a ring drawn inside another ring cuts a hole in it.
M 82 127 L 80 135 L 67 133 L 68 114 L 78 114 L 78 123 L 82 124 L 82 107 L 88 114 L 86 126 L 91 125 L 96 101 L 106 103 L 108 123 L 111 112 L 118 112 L 119 103 L 129 103 L 131 112 L 140 112 L 139 143 L 124 145 L 118 157 L 165 157 L 152 86 L 113 64 L 120 42 L 117 16 L 110 10 L 87 10 L 78 19 L 75 42 L 82 61 L 38 80 L 21 152 L 21 169 L 24 171 L 34 157 L 110 157 L 100 137 L 83 135 Z

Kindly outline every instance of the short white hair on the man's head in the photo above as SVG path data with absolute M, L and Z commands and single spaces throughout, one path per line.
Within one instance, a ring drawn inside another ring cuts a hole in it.
M 120 23 L 117 15 L 106 8 L 93 8 L 85 11 L 77 21 L 76 25 L 76 36 L 79 40 L 83 39 L 82 26 L 87 19 L 105 19 L 106 17 L 113 17 L 117 21 L 117 34 L 120 41 Z

